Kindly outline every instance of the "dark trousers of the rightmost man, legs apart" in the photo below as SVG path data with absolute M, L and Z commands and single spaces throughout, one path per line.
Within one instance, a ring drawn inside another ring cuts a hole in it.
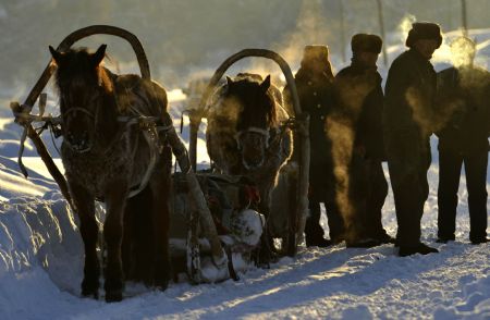
M 471 156 L 439 151 L 438 236 L 454 238 L 457 188 L 463 163 L 468 189 L 469 239 L 478 241 L 487 237 L 487 150 Z

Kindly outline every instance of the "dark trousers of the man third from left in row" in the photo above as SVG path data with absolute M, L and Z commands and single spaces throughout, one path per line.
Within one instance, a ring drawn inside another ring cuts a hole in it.
M 387 145 L 387 153 L 399 224 L 396 243 L 401 247 L 417 246 L 420 243 L 424 204 L 429 196 L 429 139 L 393 136 Z

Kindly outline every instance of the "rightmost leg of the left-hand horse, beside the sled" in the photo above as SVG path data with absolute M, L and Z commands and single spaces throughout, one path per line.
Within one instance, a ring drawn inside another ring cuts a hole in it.
M 171 278 L 169 254 L 170 193 L 172 188 L 171 159 L 171 149 L 166 147 L 158 169 L 150 181 L 154 204 L 155 285 L 162 291 L 167 288 Z

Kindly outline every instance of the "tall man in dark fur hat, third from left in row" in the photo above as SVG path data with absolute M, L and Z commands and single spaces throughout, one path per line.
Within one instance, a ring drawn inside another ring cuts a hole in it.
M 430 59 L 441 44 L 439 25 L 414 23 L 405 42 L 409 49 L 393 61 L 388 73 L 383 131 L 401 257 L 438 253 L 420 242 L 420 220 L 429 195 L 429 137 L 437 86 Z

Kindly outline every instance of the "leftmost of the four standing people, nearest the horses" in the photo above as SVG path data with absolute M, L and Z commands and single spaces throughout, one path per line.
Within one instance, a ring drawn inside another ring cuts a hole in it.
M 295 84 L 302 109 L 310 116 L 309 216 L 305 224 L 305 241 L 308 247 L 327 247 L 342 242 L 343 237 L 343 221 L 334 199 L 331 147 L 324 133 L 326 116 L 334 103 L 333 72 L 327 46 L 304 48 Z M 284 88 L 284 100 L 286 106 L 291 106 L 287 86 Z M 320 225 L 321 202 L 327 211 L 330 239 L 324 238 L 324 231 Z

